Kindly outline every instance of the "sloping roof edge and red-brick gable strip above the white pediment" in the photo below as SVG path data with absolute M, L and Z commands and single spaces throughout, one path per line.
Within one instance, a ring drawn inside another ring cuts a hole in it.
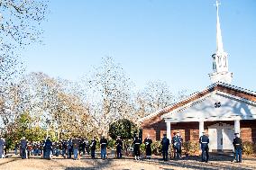
M 194 94 L 190 94 L 189 96 L 187 96 L 186 99 L 178 102 L 178 103 L 174 103 L 166 108 L 163 108 L 157 112 L 153 112 L 150 115 L 142 118 L 140 121 L 142 122 L 142 126 L 146 125 L 146 124 L 152 124 L 158 121 L 161 121 L 160 116 L 171 112 L 175 109 L 178 109 L 179 107 L 184 106 L 187 103 L 191 103 L 201 97 L 204 97 L 206 94 L 209 94 L 211 92 L 214 91 L 220 91 L 223 92 L 225 94 L 232 94 L 234 96 L 240 97 L 242 99 L 251 101 L 253 103 L 256 103 L 256 92 L 253 92 L 251 90 L 248 89 L 244 89 L 238 86 L 234 86 L 234 85 L 229 85 L 229 84 L 225 84 L 222 82 L 216 82 L 213 85 L 209 85 L 208 87 L 206 87 L 205 90 L 201 91 L 201 92 L 197 92 Z

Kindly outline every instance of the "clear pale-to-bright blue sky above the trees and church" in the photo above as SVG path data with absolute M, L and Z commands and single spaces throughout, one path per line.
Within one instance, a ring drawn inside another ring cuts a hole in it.
M 142 88 L 211 85 L 215 0 L 52 0 L 44 44 L 23 53 L 27 72 L 77 80 L 111 56 Z M 256 0 L 221 0 L 224 50 L 233 85 L 256 91 Z

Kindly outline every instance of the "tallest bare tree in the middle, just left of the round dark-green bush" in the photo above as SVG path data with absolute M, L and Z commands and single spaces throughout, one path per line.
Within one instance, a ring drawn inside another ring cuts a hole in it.
M 91 116 L 98 128 L 98 134 L 108 132 L 109 124 L 120 118 L 127 118 L 133 111 L 131 100 L 131 80 L 124 74 L 123 68 L 110 57 L 103 58 L 102 65 L 96 67 L 89 86 Z

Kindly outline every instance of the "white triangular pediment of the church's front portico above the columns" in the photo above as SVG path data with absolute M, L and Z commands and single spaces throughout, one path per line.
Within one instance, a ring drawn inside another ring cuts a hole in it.
M 160 116 L 171 122 L 256 119 L 256 103 L 215 90 Z

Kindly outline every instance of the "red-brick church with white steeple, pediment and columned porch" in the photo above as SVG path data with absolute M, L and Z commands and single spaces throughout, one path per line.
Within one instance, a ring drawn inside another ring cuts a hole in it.
M 224 51 L 216 3 L 216 51 L 212 55 L 212 85 L 202 92 L 191 94 L 142 119 L 143 138 L 147 134 L 160 140 L 163 133 L 169 139 L 179 131 L 185 141 L 198 141 L 205 130 L 209 136 L 210 151 L 233 149 L 234 132 L 242 141 L 256 142 L 256 93 L 231 85 L 233 73 L 228 69 L 228 54 Z

